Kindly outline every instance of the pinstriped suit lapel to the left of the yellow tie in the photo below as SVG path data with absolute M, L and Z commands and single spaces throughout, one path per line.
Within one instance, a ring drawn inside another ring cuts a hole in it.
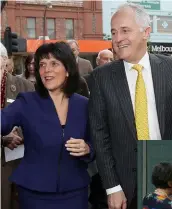
M 117 61 L 112 65 L 112 82 L 115 86 L 115 92 L 118 97 L 118 100 L 121 104 L 122 111 L 125 115 L 125 118 L 128 122 L 129 129 L 131 130 L 134 139 L 136 137 L 136 127 L 133 106 L 130 96 L 130 91 L 128 87 L 128 82 L 125 74 L 125 68 L 123 62 Z

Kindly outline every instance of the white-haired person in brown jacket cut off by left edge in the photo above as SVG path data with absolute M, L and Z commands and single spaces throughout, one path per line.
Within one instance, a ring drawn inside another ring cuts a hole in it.
M 8 60 L 7 50 L 0 43 L 0 79 L 1 79 L 1 108 L 6 107 L 15 100 L 19 92 L 33 91 L 34 86 L 31 82 L 13 76 L 7 72 L 6 64 Z M 17 195 L 13 184 L 8 181 L 12 171 L 17 167 L 19 160 L 5 162 L 4 147 L 13 150 L 22 144 L 22 135 L 20 129 L 14 127 L 13 131 L 2 138 L 2 159 L 1 159 L 1 208 L 2 209 L 16 209 Z

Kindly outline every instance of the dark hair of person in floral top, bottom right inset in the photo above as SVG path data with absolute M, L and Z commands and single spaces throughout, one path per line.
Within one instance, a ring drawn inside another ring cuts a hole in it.
M 162 162 L 156 165 L 152 172 L 152 184 L 156 188 L 170 188 L 168 182 L 172 181 L 172 164 Z

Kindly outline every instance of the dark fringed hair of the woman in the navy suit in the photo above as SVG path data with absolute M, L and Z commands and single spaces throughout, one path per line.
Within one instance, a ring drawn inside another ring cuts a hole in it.
M 48 96 L 48 90 L 44 87 L 39 74 L 39 63 L 44 58 L 50 59 L 51 56 L 61 61 L 68 72 L 69 76 L 66 78 L 62 91 L 67 96 L 72 95 L 78 90 L 80 76 L 75 56 L 70 46 L 65 42 L 43 44 L 36 50 L 34 56 L 36 91 L 43 97 Z

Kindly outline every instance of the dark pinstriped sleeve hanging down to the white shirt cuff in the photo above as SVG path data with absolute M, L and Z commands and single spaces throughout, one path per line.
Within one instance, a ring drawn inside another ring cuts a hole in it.
M 99 72 L 98 72 L 99 73 Z M 106 189 L 118 186 L 119 180 L 115 172 L 115 160 L 112 155 L 111 139 L 108 127 L 108 113 L 105 98 L 100 90 L 97 72 L 93 72 L 89 100 L 90 131 L 96 150 L 96 161 L 100 176 Z M 103 80 L 103 78 L 102 78 Z

